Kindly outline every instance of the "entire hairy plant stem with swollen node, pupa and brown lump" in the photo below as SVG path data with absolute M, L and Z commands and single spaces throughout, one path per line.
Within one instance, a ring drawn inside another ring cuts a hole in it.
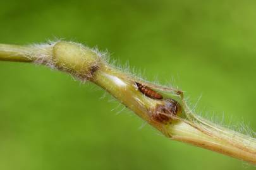
M 0 60 L 35 62 L 101 86 L 166 137 L 256 164 L 256 139 L 195 115 L 183 91 L 116 69 L 97 52 L 73 42 L 0 45 Z

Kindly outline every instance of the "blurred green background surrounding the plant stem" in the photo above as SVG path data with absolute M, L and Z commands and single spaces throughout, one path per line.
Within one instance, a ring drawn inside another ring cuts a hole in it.
M 256 130 L 256 1 L 1 1 L 0 43 L 64 38 L 172 83 Z M 254 169 L 173 142 L 94 84 L 0 62 L 0 169 Z M 120 114 L 117 114 L 121 111 Z

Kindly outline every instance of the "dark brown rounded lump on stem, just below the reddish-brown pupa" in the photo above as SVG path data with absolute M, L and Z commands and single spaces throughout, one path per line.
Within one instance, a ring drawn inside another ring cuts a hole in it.
M 172 116 L 181 113 L 181 105 L 174 99 L 165 99 L 163 105 L 157 105 L 152 115 L 156 122 L 167 124 L 171 122 Z

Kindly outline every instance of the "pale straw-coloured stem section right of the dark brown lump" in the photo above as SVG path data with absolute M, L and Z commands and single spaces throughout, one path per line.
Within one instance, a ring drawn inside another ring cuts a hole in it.
M 200 123 L 179 122 L 170 127 L 171 139 L 197 145 L 221 154 L 256 164 L 255 140 L 245 137 L 243 140 L 235 132 L 220 133 Z

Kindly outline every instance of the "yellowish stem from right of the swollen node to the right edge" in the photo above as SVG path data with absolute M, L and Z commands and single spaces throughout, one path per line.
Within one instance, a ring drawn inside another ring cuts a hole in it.
M 118 71 L 113 71 L 111 67 L 97 72 L 94 82 L 113 94 L 115 98 L 161 131 L 166 137 L 256 164 L 256 140 L 252 137 L 214 125 L 203 118 L 198 121 L 198 116 L 191 120 L 178 118 L 178 121 L 173 121 L 168 125 L 155 122 L 150 117 L 150 110 L 154 110 L 155 105 L 161 102 L 152 101 L 152 99 L 142 96 L 136 89 L 134 81 Z

